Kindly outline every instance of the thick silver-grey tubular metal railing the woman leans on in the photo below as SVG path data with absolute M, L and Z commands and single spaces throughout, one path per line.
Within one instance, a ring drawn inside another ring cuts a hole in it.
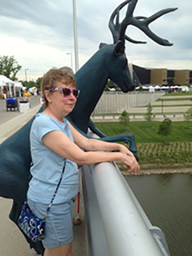
M 82 184 L 90 256 L 170 255 L 115 163 L 83 166 Z

